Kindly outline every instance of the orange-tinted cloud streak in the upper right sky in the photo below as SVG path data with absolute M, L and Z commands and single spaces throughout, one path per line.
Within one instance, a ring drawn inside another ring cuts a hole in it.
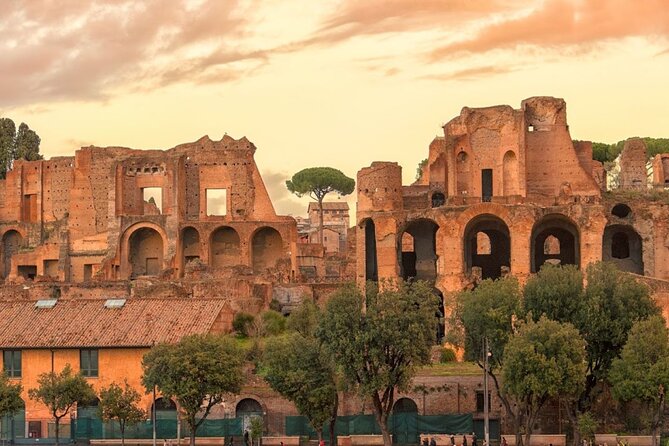
M 669 37 L 666 0 L 546 0 L 524 16 L 491 23 L 471 38 L 440 46 L 430 60 L 526 45 L 588 52 L 626 37 Z

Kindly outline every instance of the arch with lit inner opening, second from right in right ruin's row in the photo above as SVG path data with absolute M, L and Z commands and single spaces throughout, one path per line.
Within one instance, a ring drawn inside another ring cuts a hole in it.
M 536 273 L 544 263 L 580 264 L 579 234 L 576 225 L 564 215 L 549 215 L 532 229 L 531 270 Z

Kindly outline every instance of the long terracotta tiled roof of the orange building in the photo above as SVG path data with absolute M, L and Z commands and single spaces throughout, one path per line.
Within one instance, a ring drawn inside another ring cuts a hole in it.
M 122 308 L 105 300 L 0 302 L 0 348 L 150 347 L 207 333 L 222 299 L 128 299 Z

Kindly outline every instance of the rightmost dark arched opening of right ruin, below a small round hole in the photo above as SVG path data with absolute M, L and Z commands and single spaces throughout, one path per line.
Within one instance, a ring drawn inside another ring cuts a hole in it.
M 615 263 L 621 271 L 643 275 L 641 236 L 631 226 L 607 226 L 602 239 L 602 260 Z

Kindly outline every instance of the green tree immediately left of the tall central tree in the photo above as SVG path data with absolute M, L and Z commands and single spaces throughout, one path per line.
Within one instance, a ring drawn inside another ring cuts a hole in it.
M 289 317 L 289 326 L 295 331 L 267 341 L 262 375 L 272 389 L 307 417 L 319 440 L 323 438 L 323 426 L 329 422 L 330 444 L 334 444 L 337 380 L 330 355 L 314 336 L 317 318 L 318 307 L 305 300 Z

